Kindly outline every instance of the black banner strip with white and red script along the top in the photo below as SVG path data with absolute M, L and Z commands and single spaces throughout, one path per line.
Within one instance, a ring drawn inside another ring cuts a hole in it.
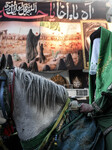
M 99 9 L 100 7 L 100 9 Z M 106 2 L 0 1 L 0 20 L 68 21 L 106 19 Z

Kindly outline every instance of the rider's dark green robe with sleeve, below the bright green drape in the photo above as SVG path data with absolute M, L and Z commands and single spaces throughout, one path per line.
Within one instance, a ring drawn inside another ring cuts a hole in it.
M 94 118 L 105 135 L 105 150 L 112 150 L 112 89 L 102 92 L 92 106 L 95 108 Z

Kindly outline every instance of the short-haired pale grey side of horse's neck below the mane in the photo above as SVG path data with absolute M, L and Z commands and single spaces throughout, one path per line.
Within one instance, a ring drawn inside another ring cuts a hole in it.
M 44 114 L 39 113 L 35 106 L 30 106 L 26 102 L 26 95 L 21 90 L 19 81 L 15 80 L 15 84 L 18 85 L 18 88 L 14 89 L 16 94 L 14 95 L 13 116 L 18 136 L 21 140 L 31 139 L 56 119 L 61 107 L 57 106 L 54 110 L 47 109 Z

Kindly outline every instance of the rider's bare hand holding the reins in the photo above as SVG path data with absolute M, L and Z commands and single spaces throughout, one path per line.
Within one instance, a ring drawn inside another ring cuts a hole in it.
M 80 105 L 80 112 L 88 113 L 88 112 L 92 112 L 93 110 L 94 108 L 92 107 L 91 104 L 82 103 Z

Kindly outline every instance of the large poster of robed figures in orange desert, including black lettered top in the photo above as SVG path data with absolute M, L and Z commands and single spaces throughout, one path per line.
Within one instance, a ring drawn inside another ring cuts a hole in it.
M 87 68 L 86 21 L 105 22 L 107 10 L 106 1 L 0 1 L 0 55 L 39 72 Z

